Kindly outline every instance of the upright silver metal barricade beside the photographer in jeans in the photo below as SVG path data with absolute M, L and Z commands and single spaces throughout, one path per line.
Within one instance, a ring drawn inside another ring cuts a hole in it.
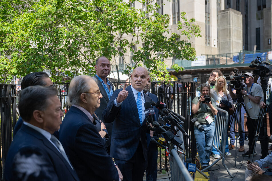
M 222 165 L 226 168 L 229 176 L 233 178 L 233 175 L 229 171 L 229 168 L 225 165 L 225 146 L 228 131 L 229 113 L 221 108 L 217 108 L 217 111 L 217 115 L 215 116 L 215 135 L 213 139 L 213 146 L 220 153 L 220 157 L 215 160 L 215 162 L 213 162 L 210 166 L 201 171 L 205 172 L 205 170 L 208 170 L 222 159 Z

